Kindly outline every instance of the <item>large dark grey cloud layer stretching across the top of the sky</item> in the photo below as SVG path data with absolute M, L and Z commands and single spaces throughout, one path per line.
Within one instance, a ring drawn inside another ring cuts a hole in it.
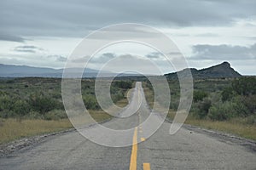
M 0 32 L 13 35 L 83 37 L 91 30 L 122 22 L 151 26 L 227 26 L 256 15 L 255 1 L 2 1 Z M 15 37 L 17 38 L 15 40 Z

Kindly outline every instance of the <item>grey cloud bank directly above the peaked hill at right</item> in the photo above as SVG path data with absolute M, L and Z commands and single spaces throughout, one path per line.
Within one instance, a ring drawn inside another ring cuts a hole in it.
M 256 43 L 249 47 L 231 45 L 195 45 L 190 59 L 256 59 Z

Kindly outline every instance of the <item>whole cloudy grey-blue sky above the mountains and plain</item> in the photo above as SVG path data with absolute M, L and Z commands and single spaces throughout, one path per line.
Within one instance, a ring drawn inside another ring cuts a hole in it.
M 189 67 L 229 61 L 241 74 L 256 75 L 255 8 L 254 0 L 2 0 L 0 63 L 61 68 L 92 31 L 138 23 L 170 37 Z M 160 59 L 131 44 L 102 51 L 104 59 L 129 54 Z M 98 62 L 104 59 L 98 57 Z

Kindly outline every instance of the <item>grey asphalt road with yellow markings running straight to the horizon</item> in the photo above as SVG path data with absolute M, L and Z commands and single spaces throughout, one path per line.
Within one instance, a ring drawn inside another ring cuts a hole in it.
M 143 94 L 141 83 L 137 82 L 133 95 L 140 91 Z M 102 146 L 73 131 L 49 136 L 2 157 L 0 169 L 256 169 L 255 150 L 196 127 L 185 126 L 169 135 L 171 123 L 164 122 L 145 139 L 147 127 L 138 124 L 150 113 L 144 94 L 141 96 L 143 102 L 136 114 L 102 124 L 116 129 L 136 127 L 127 138 L 132 146 Z M 136 144 L 137 141 L 143 142 Z

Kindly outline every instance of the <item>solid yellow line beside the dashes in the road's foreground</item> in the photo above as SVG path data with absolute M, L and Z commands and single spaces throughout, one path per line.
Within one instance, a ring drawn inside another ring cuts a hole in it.
M 130 170 L 137 170 L 137 127 L 134 129 L 134 135 L 132 139 Z

